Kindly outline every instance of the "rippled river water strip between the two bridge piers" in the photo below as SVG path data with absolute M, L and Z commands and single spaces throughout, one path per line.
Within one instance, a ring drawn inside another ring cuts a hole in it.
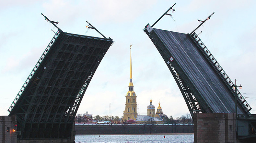
M 164 138 L 165 136 L 165 138 Z M 76 143 L 193 143 L 194 135 L 75 136 Z

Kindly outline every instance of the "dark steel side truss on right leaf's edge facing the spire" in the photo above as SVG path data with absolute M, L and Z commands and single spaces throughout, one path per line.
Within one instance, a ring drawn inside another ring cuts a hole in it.
M 153 44 L 156 46 L 158 52 L 163 57 L 165 63 L 167 64 L 172 76 L 174 77 L 178 87 L 180 88 L 181 94 L 185 99 L 191 116 L 193 117 L 193 113 L 196 112 L 213 112 L 206 104 L 204 99 L 200 97 L 199 92 L 193 86 L 193 84 L 191 82 L 186 82 L 188 80 L 184 80 L 188 79 L 188 77 L 184 74 L 184 71 L 181 69 L 179 64 L 175 60 L 170 62 L 170 57 L 172 57 L 171 53 L 162 48 L 165 47 L 163 42 L 159 39 L 157 34 L 150 29 L 152 30 L 153 28 L 148 24 L 147 26 L 145 26 L 144 32 L 149 36 Z

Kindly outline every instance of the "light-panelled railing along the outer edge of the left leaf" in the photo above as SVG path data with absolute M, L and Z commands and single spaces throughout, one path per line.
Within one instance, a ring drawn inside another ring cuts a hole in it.
M 17 103 L 19 97 L 22 95 L 24 89 L 27 87 L 29 81 L 31 80 L 31 78 L 33 77 L 35 71 L 37 70 L 37 68 L 40 66 L 41 62 L 43 61 L 44 57 L 46 56 L 46 54 L 48 53 L 48 51 L 50 50 L 52 44 L 55 42 L 55 40 L 57 39 L 57 37 L 59 36 L 60 32 L 57 31 L 55 33 L 55 35 L 53 36 L 51 42 L 48 44 L 48 46 L 46 47 L 46 49 L 44 50 L 44 53 L 42 54 L 42 56 L 40 57 L 40 59 L 38 60 L 38 62 L 36 63 L 36 65 L 34 66 L 34 68 L 32 69 L 31 73 L 29 74 L 29 77 L 27 78 L 27 80 L 25 81 L 25 83 L 22 85 L 21 89 L 19 90 L 17 96 L 15 97 L 15 99 L 13 100 L 11 106 L 9 107 L 8 111 L 11 112 L 13 107 L 15 106 L 15 104 Z

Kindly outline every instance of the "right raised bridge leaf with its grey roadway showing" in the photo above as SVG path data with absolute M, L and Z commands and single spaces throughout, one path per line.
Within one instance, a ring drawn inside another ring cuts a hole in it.
M 233 82 L 219 65 L 195 32 L 183 34 L 145 26 L 158 52 L 173 75 L 182 96 L 193 113 L 250 114 L 251 107 L 234 87 Z

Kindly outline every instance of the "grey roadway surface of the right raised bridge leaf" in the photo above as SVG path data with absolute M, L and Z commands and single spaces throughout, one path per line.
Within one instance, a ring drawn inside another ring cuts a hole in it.
M 199 95 L 195 96 L 202 97 L 214 113 L 234 113 L 234 94 L 228 89 L 231 87 L 227 87 L 190 36 L 155 28 L 153 31 L 150 34 L 156 33 L 154 36 L 157 36 L 165 46 L 161 48 L 168 53 L 166 58 L 172 56 L 176 60 L 181 67 L 177 72 L 184 73 L 186 77 L 183 80 L 192 83 L 199 92 Z M 240 107 L 238 113 L 246 114 Z

